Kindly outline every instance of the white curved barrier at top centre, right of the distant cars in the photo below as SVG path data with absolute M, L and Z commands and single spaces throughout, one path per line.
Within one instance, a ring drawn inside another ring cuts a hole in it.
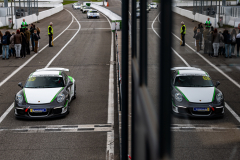
M 99 6 L 93 3 L 91 4 L 91 7 L 105 14 L 111 21 L 122 21 L 122 17 L 120 17 L 119 15 L 110 11 L 107 8 L 104 8 L 102 6 Z

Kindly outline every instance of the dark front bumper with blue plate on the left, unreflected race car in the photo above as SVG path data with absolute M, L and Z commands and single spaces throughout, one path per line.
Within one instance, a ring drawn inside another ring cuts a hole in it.
M 45 112 L 33 112 L 33 109 L 44 109 Z M 16 118 L 22 119 L 47 119 L 66 116 L 68 114 L 68 105 L 53 104 L 14 104 L 14 114 Z

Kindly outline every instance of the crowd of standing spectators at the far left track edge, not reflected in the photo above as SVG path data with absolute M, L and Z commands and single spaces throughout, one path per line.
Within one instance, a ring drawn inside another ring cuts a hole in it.
M 38 53 L 40 39 L 40 28 L 31 24 L 28 27 L 22 27 L 15 32 L 0 31 L 0 55 L 3 60 L 8 60 L 10 57 L 25 58 L 30 55 L 31 51 Z M 31 48 L 31 51 L 30 51 Z

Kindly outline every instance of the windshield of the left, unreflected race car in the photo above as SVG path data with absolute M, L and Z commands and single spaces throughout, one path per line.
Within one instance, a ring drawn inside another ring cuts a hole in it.
M 58 88 L 64 87 L 62 77 L 30 77 L 25 88 Z

